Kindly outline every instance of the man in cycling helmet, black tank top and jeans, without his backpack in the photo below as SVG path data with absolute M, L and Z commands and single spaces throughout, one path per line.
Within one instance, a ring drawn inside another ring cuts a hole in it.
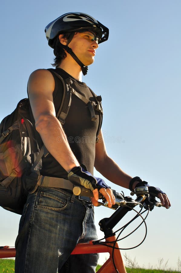
M 87 14 L 73 12 L 51 22 L 45 32 L 48 44 L 54 49 L 55 71 L 71 80 L 78 96 L 72 94 L 70 110 L 62 126 L 56 118 L 62 101 L 60 80 L 46 69 L 30 75 L 28 94 L 35 126 L 49 152 L 42 158 L 41 175 L 46 179 L 54 177 L 59 186 L 44 187 L 41 184 L 35 193 L 28 195 L 16 240 L 15 272 L 91 273 L 95 272 L 97 254 L 70 254 L 77 242 L 97 238 L 92 204 L 98 204 L 98 191 L 106 198 L 109 207 L 115 204 L 110 187 L 104 180 L 93 176 L 93 168 L 111 182 L 130 190 L 145 182 L 125 174 L 107 155 L 99 130 L 102 118 L 100 97 L 94 97 L 82 83 L 82 73 L 85 75 L 87 66 L 94 62 L 98 44 L 108 39 L 108 29 Z M 82 97 L 91 101 L 90 107 L 80 99 Z M 95 105 L 100 107 L 93 107 Z M 76 137 L 80 141 L 75 141 Z M 83 141 L 84 137 L 89 141 Z M 94 194 L 91 201 L 75 197 L 71 186 L 67 186 L 71 184 L 68 179 L 91 189 Z M 160 198 L 163 206 L 169 208 L 166 194 L 159 188 L 148 187 Z

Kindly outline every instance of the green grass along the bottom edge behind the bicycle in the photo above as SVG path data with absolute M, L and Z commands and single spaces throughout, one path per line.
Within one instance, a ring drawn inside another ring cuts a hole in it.
M 96 271 L 101 267 L 97 265 Z M 15 272 L 15 260 L 0 259 L 0 272 L 1 273 L 14 273 Z M 178 273 L 178 271 L 163 271 L 156 269 L 140 269 L 140 268 L 126 268 L 127 273 Z

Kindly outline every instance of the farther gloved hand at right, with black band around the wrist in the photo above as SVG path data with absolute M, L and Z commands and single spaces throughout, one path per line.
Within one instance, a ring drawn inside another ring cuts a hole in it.
M 148 185 L 146 181 L 142 181 L 140 177 L 133 177 L 130 181 L 129 189 L 133 191 L 133 188 L 146 186 L 148 187 L 148 192 L 151 196 L 158 197 L 162 203 L 162 206 L 168 209 L 171 207 L 170 201 L 165 192 L 160 190 L 160 188 Z

